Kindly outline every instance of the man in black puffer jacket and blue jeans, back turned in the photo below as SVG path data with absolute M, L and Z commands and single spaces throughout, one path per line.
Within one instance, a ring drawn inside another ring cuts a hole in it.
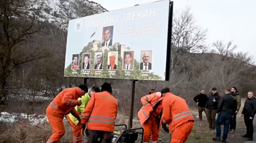
M 229 133 L 229 124 L 237 109 L 236 99 L 230 94 L 230 92 L 230 89 L 225 90 L 225 95 L 221 97 L 217 107 L 218 117 L 216 121 L 216 137 L 213 138 L 213 140 L 221 140 L 221 124 L 223 123 L 223 143 L 226 143 L 227 134 Z

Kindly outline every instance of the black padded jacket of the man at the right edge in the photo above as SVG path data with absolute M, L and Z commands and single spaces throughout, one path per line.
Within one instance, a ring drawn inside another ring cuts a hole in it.
M 254 117 L 256 113 L 256 98 L 247 98 L 244 103 L 244 109 L 242 114 L 250 115 L 250 117 Z

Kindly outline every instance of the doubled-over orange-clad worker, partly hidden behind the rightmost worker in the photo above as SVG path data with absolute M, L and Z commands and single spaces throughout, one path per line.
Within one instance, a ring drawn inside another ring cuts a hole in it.
M 162 112 L 162 100 L 163 96 L 161 92 L 155 92 L 141 99 L 143 107 L 138 112 L 140 124 L 144 128 L 143 143 L 149 143 L 152 134 L 152 143 L 157 143 L 159 136 L 159 125 Z

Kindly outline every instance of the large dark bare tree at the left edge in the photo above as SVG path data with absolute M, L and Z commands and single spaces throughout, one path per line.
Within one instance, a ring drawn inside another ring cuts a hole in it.
M 16 66 L 50 55 L 44 48 L 26 47 L 31 36 L 46 27 L 39 22 L 39 13 L 29 13 L 26 4 L 27 0 L 0 1 L 0 101 L 7 95 L 7 77 Z

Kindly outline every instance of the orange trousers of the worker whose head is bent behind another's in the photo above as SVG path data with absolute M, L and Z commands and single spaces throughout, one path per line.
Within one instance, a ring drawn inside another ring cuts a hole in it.
M 153 117 L 149 117 L 143 124 L 143 128 L 144 128 L 143 143 L 149 143 L 151 134 L 152 134 L 152 143 L 157 143 L 158 136 L 159 136 L 157 119 Z

